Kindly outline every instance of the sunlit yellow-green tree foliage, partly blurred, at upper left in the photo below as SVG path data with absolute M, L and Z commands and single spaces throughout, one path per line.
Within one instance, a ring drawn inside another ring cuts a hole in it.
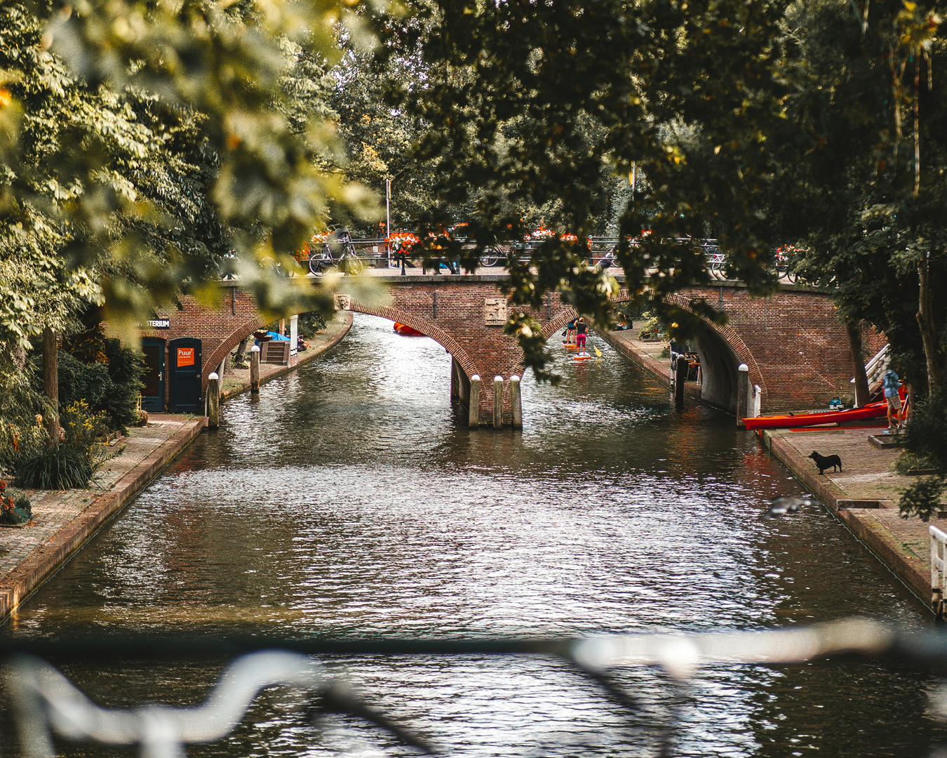
M 231 251 L 264 312 L 312 305 L 311 285 L 269 276 L 267 262 L 292 266 L 330 202 L 371 210 L 364 189 L 325 170 L 331 130 L 317 109 L 300 115 L 292 100 L 305 93 L 289 86 L 310 60 L 337 57 L 336 23 L 370 41 L 369 14 L 330 0 L 265 10 L 4 9 L 0 239 L 23 229 L 33 267 L 104 300 L 128 335 L 178 293 L 209 295 Z M 26 344 L 43 325 L 7 289 L 0 341 Z

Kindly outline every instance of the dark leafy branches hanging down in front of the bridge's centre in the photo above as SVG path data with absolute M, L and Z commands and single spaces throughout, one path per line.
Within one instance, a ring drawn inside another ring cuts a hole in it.
M 410 23 L 389 27 L 383 49 L 390 58 L 420 46 L 428 72 L 423 88 L 402 88 L 393 99 L 430 124 L 417 154 L 437 167 L 437 202 L 419 217 L 422 239 L 448 226 L 453 208 L 471 208 L 477 248 L 452 251 L 470 266 L 485 247 L 522 239 L 527 225 L 513 208 L 558 203 L 578 244 L 550 240 L 531 266 L 511 259 L 507 291 L 522 308 L 559 288 L 606 324 L 616 284 L 586 268 L 585 238 L 617 201 L 629 287 L 647 289 L 654 309 L 682 331 L 695 318 L 663 298 L 706 283 L 706 266 L 695 245 L 663 241 L 712 231 L 752 291 L 769 291 L 760 212 L 773 173 L 767 138 L 790 92 L 780 69 L 783 8 L 729 0 L 419 3 Z M 633 163 L 649 178 L 646 197 L 614 191 L 613 177 L 627 176 Z M 692 307 L 723 320 L 706 302 Z M 545 375 L 538 325 L 512 312 L 508 333 Z

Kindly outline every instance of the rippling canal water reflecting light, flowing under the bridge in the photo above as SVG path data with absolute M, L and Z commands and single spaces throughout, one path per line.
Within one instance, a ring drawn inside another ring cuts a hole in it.
M 677 411 L 601 340 L 524 381 L 522 432 L 470 430 L 450 356 L 356 316 L 330 354 L 223 406 L 202 435 L 37 593 L 7 631 L 498 637 L 753 629 L 869 614 L 929 623 L 830 514 L 764 522 L 797 481 L 732 417 Z M 558 352 L 558 351 L 557 351 Z M 377 707 L 461 756 L 927 755 L 937 682 L 872 662 L 714 666 L 671 690 L 616 672 L 631 718 L 562 662 L 331 659 Z M 221 663 L 67 671 L 99 703 L 196 703 Z M 312 731 L 263 695 L 195 756 L 408 755 L 333 716 Z M 62 744 L 63 755 L 129 755 Z M 15 753 L 14 753 L 15 754 Z

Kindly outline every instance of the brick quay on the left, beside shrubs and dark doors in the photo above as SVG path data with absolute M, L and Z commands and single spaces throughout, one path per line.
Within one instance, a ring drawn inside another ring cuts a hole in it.
M 27 490 L 33 520 L 0 528 L 0 622 L 170 463 L 204 427 L 203 418 L 152 414 L 88 489 Z

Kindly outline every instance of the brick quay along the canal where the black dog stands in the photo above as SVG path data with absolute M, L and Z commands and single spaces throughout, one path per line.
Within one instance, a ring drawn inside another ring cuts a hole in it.
M 895 474 L 898 448 L 878 449 L 872 428 L 762 429 L 759 438 L 885 567 L 931 607 L 931 548 L 928 525 L 902 518 L 897 502 L 910 478 Z M 843 470 L 818 469 L 807 456 L 837 455 Z M 785 516 L 791 517 L 791 516 Z

